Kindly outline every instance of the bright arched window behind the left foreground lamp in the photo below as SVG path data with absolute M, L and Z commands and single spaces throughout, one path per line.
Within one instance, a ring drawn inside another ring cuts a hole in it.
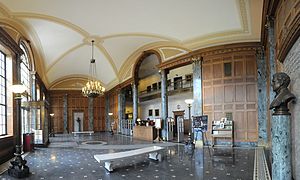
M 30 83 L 30 60 L 26 46 L 21 43 L 20 48 L 24 54 L 21 56 L 20 73 L 21 83 L 26 87 L 27 96 L 22 98 L 22 102 L 31 100 L 31 83 Z M 22 134 L 31 132 L 32 122 L 30 120 L 30 109 L 26 106 L 21 106 L 22 116 Z

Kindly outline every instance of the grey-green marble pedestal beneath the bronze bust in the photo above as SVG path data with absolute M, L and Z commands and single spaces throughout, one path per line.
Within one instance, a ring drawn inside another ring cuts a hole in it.
M 291 124 L 290 115 L 272 116 L 272 179 L 291 180 Z

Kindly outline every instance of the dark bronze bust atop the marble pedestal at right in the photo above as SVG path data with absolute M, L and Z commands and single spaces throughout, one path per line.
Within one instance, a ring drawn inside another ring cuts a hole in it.
M 276 93 L 270 104 L 270 109 L 274 109 L 273 115 L 290 115 L 288 103 L 296 98 L 288 89 L 290 81 L 290 77 L 286 73 L 280 72 L 273 75 L 271 85 Z

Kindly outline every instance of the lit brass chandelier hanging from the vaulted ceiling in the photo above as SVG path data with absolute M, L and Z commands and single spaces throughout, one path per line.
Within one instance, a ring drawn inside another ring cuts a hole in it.
M 90 61 L 90 75 L 88 82 L 82 88 L 82 95 L 85 97 L 98 97 L 102 95 L 105 88 L 101 85 L 100 81 L 96 79 L 96 60 L 94 59 L 94 40 L 92 40 L 92 59 Z

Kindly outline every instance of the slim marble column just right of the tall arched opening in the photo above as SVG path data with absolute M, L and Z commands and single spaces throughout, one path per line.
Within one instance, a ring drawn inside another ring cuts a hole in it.
M 162 69 L 161 72 L 161 118 L 162 118 L 162 138 L 167 140 L 167 128 L 168 128 L 168 84 L 167 84 L 167 72 Z

